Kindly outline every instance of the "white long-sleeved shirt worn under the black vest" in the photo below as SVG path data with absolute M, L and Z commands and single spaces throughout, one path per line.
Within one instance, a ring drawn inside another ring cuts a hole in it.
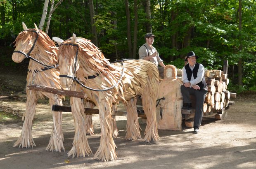
M 196 64 L 194 64 L 194 66 L 195 65 Z M 194 69 L 194 66 L 192 66 L 192 67 L 190 66 L 190 69 L 192 71 Z M 187 79 L 187 72 L 186 72 L 185 66 L 182 69 L 182 81 L 183 81 L 183 83 L 190 82 L 191 86 L 193 86 L 193 85 L 196 85 L 197 83 L 199 83 L 200 81 L 202 81 L 203 77 L 204 77 L 204 66 L 202 64 L 199 64 L 199 68 L 198 68 L 198 72 L 197 72 L 197 78 L 194 79 L 194 76 L 192 74 L 190 81 Z

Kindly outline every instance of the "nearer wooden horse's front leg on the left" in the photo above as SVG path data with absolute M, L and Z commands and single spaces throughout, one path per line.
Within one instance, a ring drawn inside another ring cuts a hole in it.
M 75 127 L 75 136 L 73 140 L 73 146 L 68 153 L 68 156 L 72 155 L 73 157 L 82 156 L 85 157 L 87 154 L 92 153 L 90 146 L 86 137 L 86 125 L 84 120 L 84 104 L 81 98 L 71 97 L 71 111 L 74 117 L 74 127 Z

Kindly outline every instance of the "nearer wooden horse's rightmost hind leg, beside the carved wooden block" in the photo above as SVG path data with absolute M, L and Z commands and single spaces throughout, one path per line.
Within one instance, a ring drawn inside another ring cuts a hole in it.
M 153 81 L 153 80 L 152 80 Z M 154 86 L 154 85 L 148 85 Z M 146 88 L 144 93 L 142 94 L 142 105 L 147 116 L 147 126 L 145 129 L 145 137 L 143 141 L 159 141 L 160 137 L 157 131 L 157 123 L 156 123 L 156 98 L 157 93 L 153 93 L 155 90 L 152 88 Z

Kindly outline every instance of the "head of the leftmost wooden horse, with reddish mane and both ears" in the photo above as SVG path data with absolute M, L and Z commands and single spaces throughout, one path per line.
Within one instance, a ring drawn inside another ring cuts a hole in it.
M 57 63 L 57 47 L 54 42 L 48 37 L 48 35 L 42 30 L 38 30 L 36 24 L 35 28 L 28 29 L 25 23 L 22 22 L 23 31 L 19 33 L 15 39 L 15 50 L 12 54 L 12 60 L 16 63 L 21 63 L 25 58 L 30 55 L 41 53 L 41 56 L 45 56 L 45 64 Z M 41 60 L 40 58 L 36 58 Z

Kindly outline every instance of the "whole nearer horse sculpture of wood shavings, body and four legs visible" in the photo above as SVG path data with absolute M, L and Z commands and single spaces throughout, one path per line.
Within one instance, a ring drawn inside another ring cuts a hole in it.
M 89 40 L 73 37 L 59 46 L 60 80 L 62 87 L 83 91 L 99 109 L 101 138 L 95 159 L 116 159 L 112 138 L 113 102 L 123 101 L 127 109 L 126 139 L 140 138 L 137 119 L 137 95 L 142 96 L 143 109 L 147 116 L 147 127 L 143 141 L 158 141 L 156 124 L 156 99 L 159 88 L 159 73 L 153 63 L 145 60 L 127 60 L 123 66 L 110 64 L 102 52 Z M 75 82 L 74 82 L 75 81 Z M 68 155 L 89 155 L 91 149 L 86 138 L 84 106 L 80 98 L 71 97 L 75 136 Z M 85 112 L 86 113 L 86 112 Z

